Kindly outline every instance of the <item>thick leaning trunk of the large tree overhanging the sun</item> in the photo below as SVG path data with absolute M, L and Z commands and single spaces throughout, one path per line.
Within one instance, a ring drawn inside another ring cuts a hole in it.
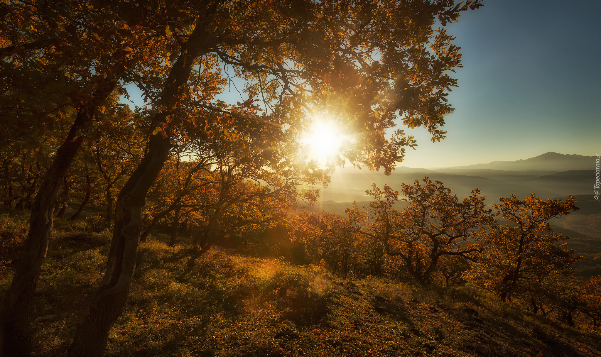
M 199 19 L 200 23 L 200 19 Z M 203 43 L 207 41 L 206 45 Z M 153 115 L 152 128 L 163 127 L 171 109 L 180 100 L 180 91 L 188 82 L 194 61 L 201 50 L 210 46 L 210 35 L 196 26 L 182 46 L 182 54 L 173 64 Z M 167 159 L 171 145 L 170 129 L 150 136 L 148 152 L 121 189 L 115 205 L 115 228 L 106 264 L 105 276 L 92 296 L 85 315 L 79 320 L 70 357 L 102 357 L 111 326 L 125 305 L 129 285 L 136 268 L 138 242 L 142 233 L 142 209 L 148 190 Z

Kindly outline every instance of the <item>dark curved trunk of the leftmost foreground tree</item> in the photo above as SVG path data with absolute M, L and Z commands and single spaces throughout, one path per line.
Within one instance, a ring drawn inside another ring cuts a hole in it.
M 41 266 L 46 259 L 56 199 L 84 139 L 80 130 L 94 117 L 97 106 L 106 100 L 116 84 L 117 81 L 109 81 L 102 88 L 97 88 L 88 99 L 88 106 L 79 109 L 67 138 L 56 151 L 52 165 L 46 171 L 40 190 L 35 195 L 29 233 L 2 304 L 4 311 L 0 321 L 0 355 L 4 357 L 31 355 L 33 297 Z

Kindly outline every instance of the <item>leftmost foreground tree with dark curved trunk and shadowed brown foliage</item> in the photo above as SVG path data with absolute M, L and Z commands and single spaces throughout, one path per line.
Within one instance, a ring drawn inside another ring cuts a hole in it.
M 46 257 L 53 210 L 85 129 L 107 105 L 124 73 L 166 38 L 160 20 L 142 21 L 150 11 L 140 7 L 132 13 L 132 6 L 115 2 L 97 8 L 86 1 L 1 5 L 3 133 L 35 141 L 39 130 L 69 123 L 40 182 L 19 265 L 2 304 L 0 343 L 6 356 L 31 352 L 32 299 Z

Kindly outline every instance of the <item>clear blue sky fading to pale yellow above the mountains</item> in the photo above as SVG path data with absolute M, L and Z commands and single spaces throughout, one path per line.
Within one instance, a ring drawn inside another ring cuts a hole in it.
M 601 153 L 600 13 L 600 0 L 484 0 L 463 13 L 448 27 L 464 67 L 448 96 L 456 111 L 446 117 L 447 139 L 432 143 L 424 128 L 406 130 L 419 147 L 400 165 Z

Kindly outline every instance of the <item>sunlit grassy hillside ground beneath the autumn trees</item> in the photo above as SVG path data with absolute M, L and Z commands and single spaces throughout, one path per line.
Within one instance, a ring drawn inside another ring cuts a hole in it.
M 64 355 L 102 276 L 109 233 L 59 220 L 38 284 L 38 356 Z M 343 280 L 319 266 L 213 249 L 194 266 L 162 237 L 132 282 L 107 356 L 599 356 L 601 334 L 468 288 Z M 0 288 L 11 267 L 0 270 Z

